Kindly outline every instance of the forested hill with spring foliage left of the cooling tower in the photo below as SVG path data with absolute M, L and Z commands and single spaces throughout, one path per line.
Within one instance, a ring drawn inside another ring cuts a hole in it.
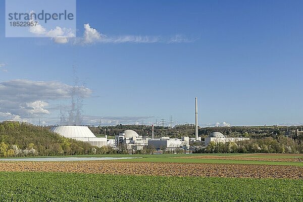
M 0 123 L 0 157 L 85 155 L 95 151 L 89 143 L 65 138 L 47 127 Z

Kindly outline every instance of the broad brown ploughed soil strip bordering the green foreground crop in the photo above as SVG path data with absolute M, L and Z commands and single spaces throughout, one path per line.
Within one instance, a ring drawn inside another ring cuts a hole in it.
M 282 165 L 151 162 L 0 162 L 0 171 L 303 179 L 303 168 Z

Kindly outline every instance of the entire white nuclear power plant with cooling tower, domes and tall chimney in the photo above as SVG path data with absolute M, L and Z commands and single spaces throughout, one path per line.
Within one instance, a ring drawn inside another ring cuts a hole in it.
M 96 137 L 87 126 L 54 126 L 51 128 L 52 132 L 56 132 L 64 137 L 76 139 L 83 142 L 88 142 L 93 146 L 111 146 L 119 149 L 132 149 L 141 150 L 144 148 L 151 148 L 157 150 L 178 150 L 189 149 L 190 144 L 198 142 L 201 146 L 208 146 L 210 142 L 236 142 L 249 140 L 249 138 L 243 137 L 225 137 L 220 132 L 213 132 L 208 137 L 205 137 L 205 141 L 202 141 L 198 134 L 198 98 L 195 97 L 195 137 L 189 138 L 184 136 L 182 138 L 170 138 L 162 136 L 159 138 L 154 137 L 154 125 L 151 125 L 152 134 L 151 137 L 142 137 L 134 130 L 125 130 L 115 136 L 115 139 L 108 139 L 105 137 Z

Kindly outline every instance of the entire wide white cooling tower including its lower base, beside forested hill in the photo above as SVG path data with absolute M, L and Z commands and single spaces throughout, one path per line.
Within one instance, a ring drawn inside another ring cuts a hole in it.
M 93 146 L 102 147 L 107 145 L 107 135 L 96 137 L 87 126 L 53 126 L 51 131 L 67 138 L 88 142 Z

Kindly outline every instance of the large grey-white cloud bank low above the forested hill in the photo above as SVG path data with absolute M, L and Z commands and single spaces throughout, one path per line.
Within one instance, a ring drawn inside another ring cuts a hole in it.
M 27 119 L 49 115 L 56 107 L 55 100 L 72 96 L 88 97 L 91 90 L 84 86 L 71 86 L 58 81 L 11 80 L 0 82 L 0 120 Z

